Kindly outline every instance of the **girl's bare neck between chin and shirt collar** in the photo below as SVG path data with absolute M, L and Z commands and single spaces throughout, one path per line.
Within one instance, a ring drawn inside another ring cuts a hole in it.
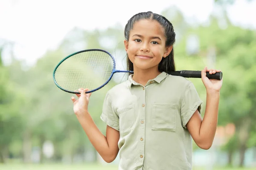
M 140 68 L 134 68 L 134 75 L 132 79 L 140 83 L 141 85 L 145 86 L 150 79 L 156 78 L 161 72 L 158 71 L 158 66 L 155 69 L 140 69 Z

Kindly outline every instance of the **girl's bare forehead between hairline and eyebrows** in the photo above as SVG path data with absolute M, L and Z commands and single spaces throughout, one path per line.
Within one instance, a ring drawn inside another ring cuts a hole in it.
M 133 34 L 140 34 L 143 35 L 143 37 L 165 37 L 163 26 L 161 26 L 160 23 L 158 23 L 156 20 L 147 19 L 142 19 L 134 23 L 133 28 L 130 31 L 130 37 L 133 36 Z

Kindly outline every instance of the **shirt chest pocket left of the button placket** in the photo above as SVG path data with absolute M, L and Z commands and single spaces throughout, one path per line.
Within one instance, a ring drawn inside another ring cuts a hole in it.
M 117 109 L 119 116 L 119 132 L 120 136 L 125 136 L 131 132 L 135 122 L 134 105 L 128 105 L 124 108 Z

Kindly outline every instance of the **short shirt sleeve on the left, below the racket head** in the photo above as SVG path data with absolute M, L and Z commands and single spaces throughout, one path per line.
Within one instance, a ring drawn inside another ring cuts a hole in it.
M 111 105 L 111 97 L 108 93 L 106 94 L 103 102 L 102 115 L 100 116 L 100 118 L 108 126 L 119 131 L 119 116 L 113 110 L 113 107 Z

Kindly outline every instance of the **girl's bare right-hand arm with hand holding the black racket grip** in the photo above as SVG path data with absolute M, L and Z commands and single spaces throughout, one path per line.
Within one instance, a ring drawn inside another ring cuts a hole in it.
M 219 72 L 207 70 L 207 68 L 202 71 L 202 81 L 207 90 L 204 119 L 197 110 L 186 125 L 195 143 L 202 149 L 209 149 L 212 146 L 218 123 L 218 105 L 222 85 L 222 80 L 209 80 L 206 77 L 206 71 L 210 74 Z

